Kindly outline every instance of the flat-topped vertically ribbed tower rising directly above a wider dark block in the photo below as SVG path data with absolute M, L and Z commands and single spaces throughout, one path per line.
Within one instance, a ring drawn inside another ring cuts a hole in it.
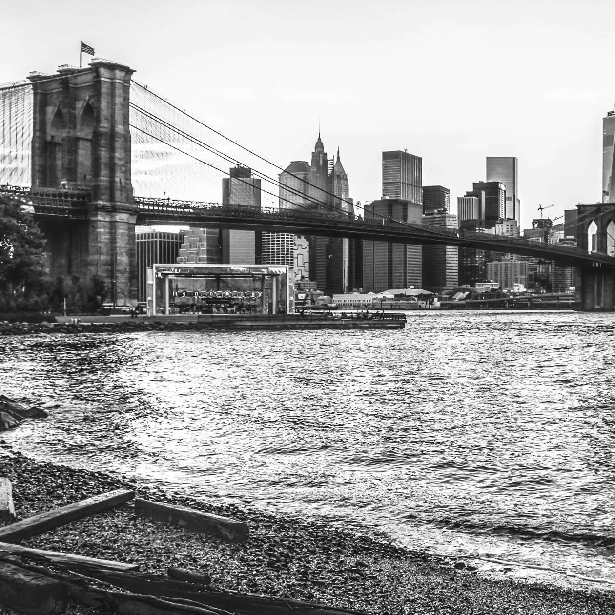
M 423 204 L 423 158 L 408 151 L 383 152 L 383 197 Z

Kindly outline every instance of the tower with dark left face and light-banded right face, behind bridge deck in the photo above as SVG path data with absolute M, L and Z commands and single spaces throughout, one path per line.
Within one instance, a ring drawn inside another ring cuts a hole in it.
M 448 213 L 423 216 L 423 224 L 459 228 L 457 216 Z M 445 289 L 452 290 L 458 284 L 459 248 L 456 245 L 424 245 L 422 288 L 432 293 L 441 293 Z

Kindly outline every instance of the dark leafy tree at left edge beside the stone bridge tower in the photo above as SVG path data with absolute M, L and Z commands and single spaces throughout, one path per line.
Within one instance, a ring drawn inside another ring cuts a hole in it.
M 27 207 L 0 195 L 0 311 L 47 308 L 45 239 Z

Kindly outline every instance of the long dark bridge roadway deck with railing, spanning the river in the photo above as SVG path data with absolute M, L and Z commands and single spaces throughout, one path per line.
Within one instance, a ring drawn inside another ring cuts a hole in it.
M 0 192 L 16 194 L 33 207 L 34 215 L 85 219 L 87 211 L 104 205 L 91 203 L 89 191 L 29 189 L 0 185 Z M 290 232 L 367 241 L 386 241 L 414 245 L 457 245 L 493 252 L 536 256 L 566 266 L 615 268 L 615 258 L 603 253 L 588 253 L 579 248 L 544 244 L 523 237 L 507 237 L 442 226 L 411 224 L 384 219 L 315 213 L 307 210 L 278 210 L 269 207 L 222 205 L 189 200 L 134 198 L 138 225 L 186 224 L 191 227 L 232 228 L 249 231 Z

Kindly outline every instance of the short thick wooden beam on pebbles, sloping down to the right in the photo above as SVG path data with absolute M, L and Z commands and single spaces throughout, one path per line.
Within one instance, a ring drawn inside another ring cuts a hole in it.
M 250 534 L 250 528 L 240 521 L 164 502 L 150 502 L 136 498 L 135 514 L 180 525 L 200 534 L 218 536 L 231 542 L 242 542 Z

